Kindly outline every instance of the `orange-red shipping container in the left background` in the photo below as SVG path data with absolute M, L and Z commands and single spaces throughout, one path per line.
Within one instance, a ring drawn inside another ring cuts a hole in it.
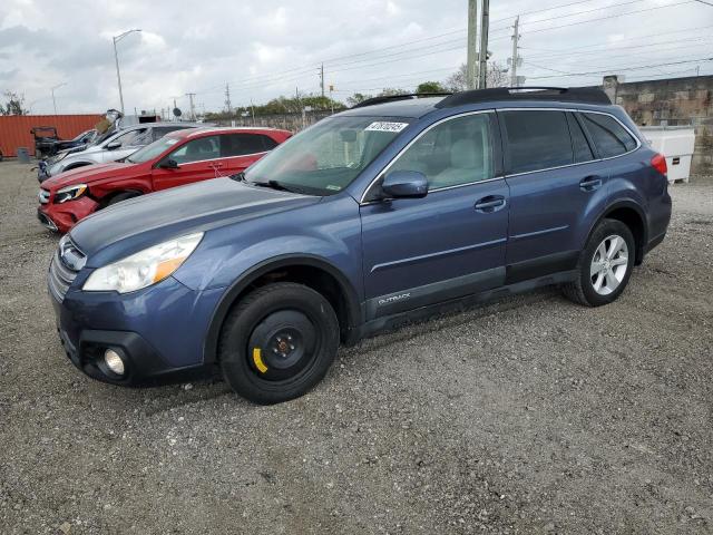
M 18 147 L 35 154 L 35 137 L 30 130 L 36 126 L 53 126 L 60 139 L 71 139 L 94 128 L 102 115 L 4 115 L 0 116 L 0 150 L 3 156 L 16 156 Z

